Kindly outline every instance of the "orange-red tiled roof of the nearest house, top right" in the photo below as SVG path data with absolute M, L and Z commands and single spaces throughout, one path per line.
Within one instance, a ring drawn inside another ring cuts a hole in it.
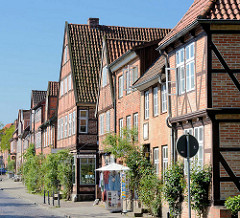
M 239 20 L 239 0 L 195 0 L 186 14 L 159 43 L 160 47 L 168 44 L 174 36 L 193 25 L 198 19 Z

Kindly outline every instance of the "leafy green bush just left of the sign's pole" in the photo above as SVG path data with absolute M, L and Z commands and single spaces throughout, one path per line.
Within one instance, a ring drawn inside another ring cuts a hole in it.
M 183 164 L 170 165 L 164 172 L 163 196 L 168 202 L 171 217 L 177 217 L 181 213 L 184 188 Z

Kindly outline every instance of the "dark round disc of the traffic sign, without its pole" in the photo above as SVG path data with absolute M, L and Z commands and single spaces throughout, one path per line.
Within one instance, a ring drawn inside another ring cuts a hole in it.
M 187 158 L 187 136 L 189 136 L 189 158 L 194 157 L 199 149 L 198 140 L 192 135 L 182 135 L 177 141 L 178 153 Z

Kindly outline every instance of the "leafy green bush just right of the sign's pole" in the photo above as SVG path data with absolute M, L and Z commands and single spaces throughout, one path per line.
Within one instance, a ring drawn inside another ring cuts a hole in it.
M 209 205 L 208 192 L 211 182 L 211 168 L 193 167 L 190 178 L 191 207 L 201 216 Z

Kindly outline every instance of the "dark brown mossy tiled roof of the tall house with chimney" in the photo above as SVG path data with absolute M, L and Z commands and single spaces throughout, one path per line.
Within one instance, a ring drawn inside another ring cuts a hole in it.
M 169 29 L 67 24 L 67 32 L 76 101 L 96 103 L 103 37 L 147 42 L 162 39 Z

